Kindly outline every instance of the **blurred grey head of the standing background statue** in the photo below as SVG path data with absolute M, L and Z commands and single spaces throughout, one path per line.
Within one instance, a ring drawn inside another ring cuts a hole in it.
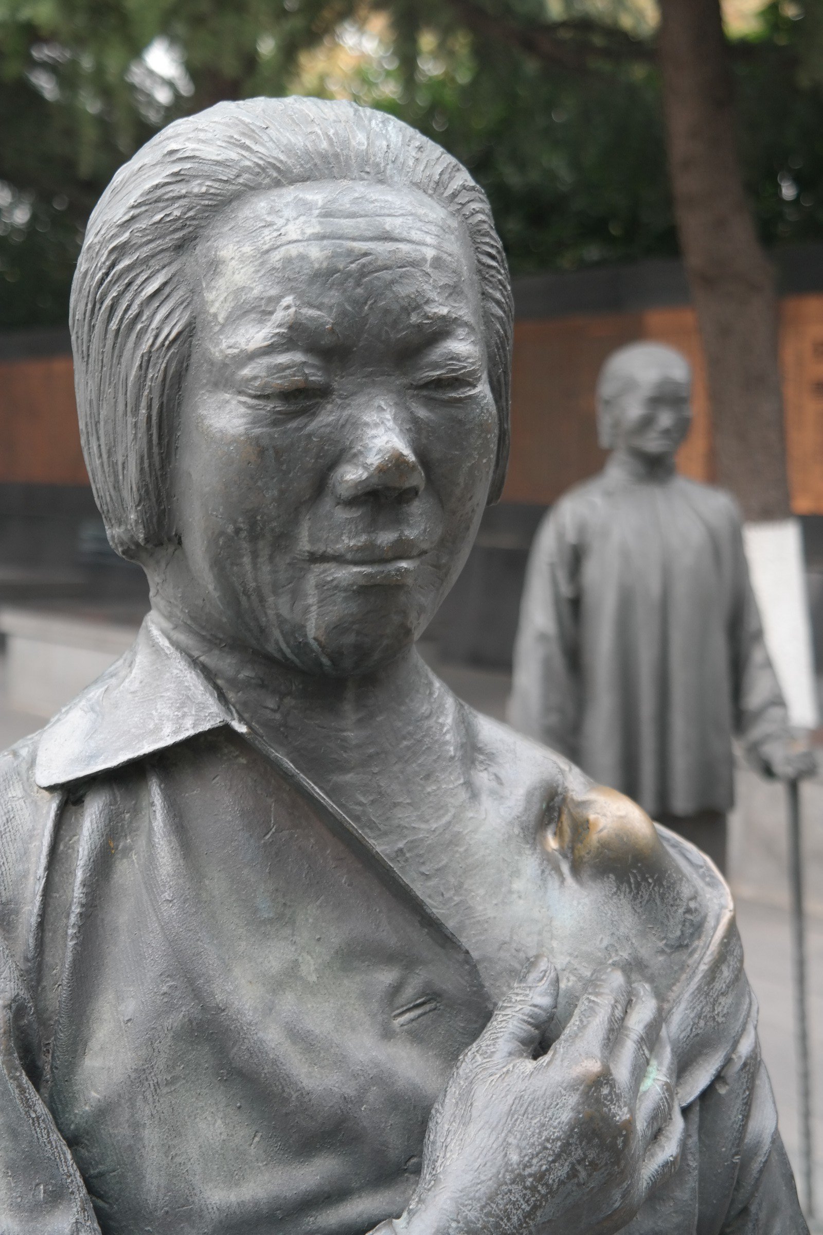
M 691 366 L 663 343 L 612 352 L 597 378 L 597 435 L 603 450 L 640 468 L 671 468 L 691 425 Z

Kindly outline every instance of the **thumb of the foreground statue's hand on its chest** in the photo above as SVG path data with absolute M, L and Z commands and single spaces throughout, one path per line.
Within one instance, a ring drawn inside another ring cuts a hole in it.
M 484 1060 L 529 1058 L 554 1016 L 558 971 L 545 956 L 537 956 L 475 1042 L 473 1055 Z

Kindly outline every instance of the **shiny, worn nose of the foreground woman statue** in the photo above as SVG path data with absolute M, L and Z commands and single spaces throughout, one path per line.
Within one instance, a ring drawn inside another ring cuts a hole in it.
M 341 501 L 411 501 L 426 478 L 415 450 L 395 416 L 384 410 L 363 426 L 334 473 L 334 493 Z

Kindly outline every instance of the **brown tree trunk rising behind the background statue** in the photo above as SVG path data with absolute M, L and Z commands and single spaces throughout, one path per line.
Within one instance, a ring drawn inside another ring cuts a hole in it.
M 749 211 L 719 0 L 660 0 L 675 217 L 703 340 L 714 473 L 749 520 L 790 513 L 775 277 Z

